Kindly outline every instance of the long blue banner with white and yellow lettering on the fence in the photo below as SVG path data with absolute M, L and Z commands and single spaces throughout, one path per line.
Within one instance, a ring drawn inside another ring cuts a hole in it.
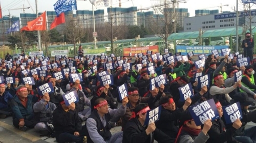
M 193 51 L 194 54 L 210 54 L 212 50 L 226 49 L 228 46 L 176 46 L 176 52 L 181 52 L 181 55 L 187 55 Z

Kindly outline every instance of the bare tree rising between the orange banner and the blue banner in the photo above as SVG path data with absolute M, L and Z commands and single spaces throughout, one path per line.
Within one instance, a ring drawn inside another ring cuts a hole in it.
M 159 3 L 153 7 L 157 17 L 152 17 L 149 25 L 153 33 L 164 39 L 165 48 L 168 48 L 167 38 L 174 32 L 174 3 L 166 0 L 160 0 Z

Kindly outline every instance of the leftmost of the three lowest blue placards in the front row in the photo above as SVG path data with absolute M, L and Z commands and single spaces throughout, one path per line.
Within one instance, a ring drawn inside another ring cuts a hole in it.
M 148 110 L 146 112 L 146 119 L 144 125 L 150 125 L 151 123 L 155 123 L 160 119 L 162 106 L 158 106 L 155 109 Z

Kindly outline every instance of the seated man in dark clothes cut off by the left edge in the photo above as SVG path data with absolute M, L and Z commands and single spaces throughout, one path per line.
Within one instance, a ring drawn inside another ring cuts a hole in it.
M 11 101 L 12 95 L 5 91 L 5 84 L 0 84 L 0 118 L 5 119 L 12 114 L 12 110 L 8 103 Z

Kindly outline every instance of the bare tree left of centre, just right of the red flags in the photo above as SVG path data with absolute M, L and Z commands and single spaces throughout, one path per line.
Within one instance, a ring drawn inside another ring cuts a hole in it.
M 72 15 L 69 15 L 69 18 L 66 19 L 63 30 L 63 33 L 67 35 L 67 39 L 74 45 L 74 55 L 76 55 L 76 42 L 86 35 L 86 31 L 84 28 L 80 28 L 80 25 L 81 23 L 79 24 L 78 19 L 75 19 Z

